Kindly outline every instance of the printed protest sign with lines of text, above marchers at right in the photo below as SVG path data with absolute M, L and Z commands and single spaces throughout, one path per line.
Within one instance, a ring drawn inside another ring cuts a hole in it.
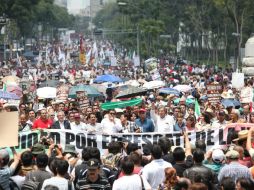
M 207 97 L 210 103 L 220 102 L 222 86 L 220 84 L 209 84 L 206 87 Z

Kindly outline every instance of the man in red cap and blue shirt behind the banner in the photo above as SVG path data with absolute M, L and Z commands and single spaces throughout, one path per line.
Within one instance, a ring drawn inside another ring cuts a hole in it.
M 139 110 L 139 118 L 135 120 L 135 124 L 140 127 L 139 132 L 154 132 L 154 124 L 151 119 L 146 117 L 146 110 Z

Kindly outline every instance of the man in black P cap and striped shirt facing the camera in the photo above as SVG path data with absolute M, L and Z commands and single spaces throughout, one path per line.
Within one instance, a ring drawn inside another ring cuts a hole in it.
M 87 162 L 87 175 L 85 178 L 78 180 L 76 184 L 77 190 L 82 189 L 104 189 L 110 190 L 111 186 L 107 178 L 100 175 L 100 162 L 97 159 L 90 159 Z

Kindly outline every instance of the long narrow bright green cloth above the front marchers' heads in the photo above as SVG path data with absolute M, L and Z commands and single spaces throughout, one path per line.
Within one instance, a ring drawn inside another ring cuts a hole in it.
M 120 102 L 106 102 L 101 104 L 101 108 L 103 110 L 111 110 L 115 108 L 126 108 L 128 106 L 135 106 L 142 103 L 141 98 L 136 98 L 128 101 L 120 101 Z

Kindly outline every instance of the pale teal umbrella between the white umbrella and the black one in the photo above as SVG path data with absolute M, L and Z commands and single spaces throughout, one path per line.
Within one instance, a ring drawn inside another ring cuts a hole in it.
M 74 86 L 70 89 L 69 97 L 76 98 L 76 92 L 79 92 L 79 91 L 86 92 L 87 96 L 90 98 L 103 96 L 103 94 L 101 94 L 95 87 L 90 86 L 90 85 L 80 84 L 80 85 Z

